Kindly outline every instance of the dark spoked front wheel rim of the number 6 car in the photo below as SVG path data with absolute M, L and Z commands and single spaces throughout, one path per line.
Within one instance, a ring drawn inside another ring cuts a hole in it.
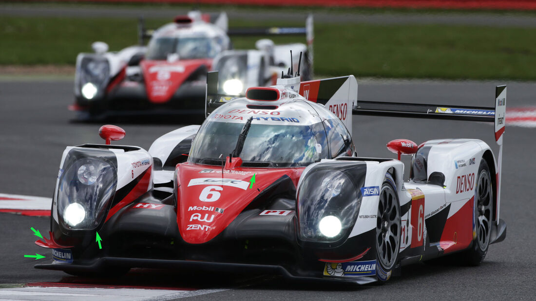
M 376 218 L 376 250 L 378 260 L 390 269 L 398 256 L 400 245 L 400 214 L 397 197 L 389 185 L 382 187 L 379 195 L 378 215 Z

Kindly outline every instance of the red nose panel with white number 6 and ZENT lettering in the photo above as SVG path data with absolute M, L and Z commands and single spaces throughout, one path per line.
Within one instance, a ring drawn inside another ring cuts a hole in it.
M 281 177 L 290 177 L 296 185 L 303 169 L 236 167 L 224 169 L 222 176 L 221 166 L 177 165 L 177 225 L 183 240 L 191 244 L 212 240 Z

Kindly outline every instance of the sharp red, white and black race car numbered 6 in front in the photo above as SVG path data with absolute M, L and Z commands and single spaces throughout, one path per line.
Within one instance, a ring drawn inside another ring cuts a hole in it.
M 496 160 L 481 140 L 391 141 L 399 159 L 412 155 L 405 182 L 399 159 L 356 157 L 349 125 L 353 114 L 490 121 L 502 145 L 505 86 L 494 108 L 452 107 L 357 101 L 353 76 L 286 76 L 210 107 L 226 97 L 217 78 L 209 74 L 203 125 L 165 134 L 148 151 L 110 145 L 125 133 L 109 125 L 100 130 L 107 144 L 65 149 L 49 238 L 36 242 L 54 261 L 36 268 L 369 283 L 442 256 L 478 265 L 504 240 L 502 148 Z

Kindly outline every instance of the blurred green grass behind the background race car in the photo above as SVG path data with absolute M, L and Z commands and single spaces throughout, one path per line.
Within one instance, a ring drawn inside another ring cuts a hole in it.
M 167 20 L 148 19 L 148 27 Z M 230 26 L 303 26 L 302 22 L 232 20 Z M 75 64 L 93 41 L 111 50 L 137 43 L 137 20 L 0 18 L 0 65 Z M 388 78 L 536 80 L 536 29 L 315 23 L 315 73 Z M 233 37 L 252 48 L 258 37 Z M 276 43 L 304 42 L 300 36 Z

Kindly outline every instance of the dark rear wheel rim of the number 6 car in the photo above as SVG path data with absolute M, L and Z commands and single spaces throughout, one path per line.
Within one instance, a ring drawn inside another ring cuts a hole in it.
M 489 244 L 489 234 L 491 230 L 492 217 L 492 184 L 487 171 L 482 171 L 477 182 L 476 218 L 477 218 L 477 238 L 480 250 L 486 251 Z

